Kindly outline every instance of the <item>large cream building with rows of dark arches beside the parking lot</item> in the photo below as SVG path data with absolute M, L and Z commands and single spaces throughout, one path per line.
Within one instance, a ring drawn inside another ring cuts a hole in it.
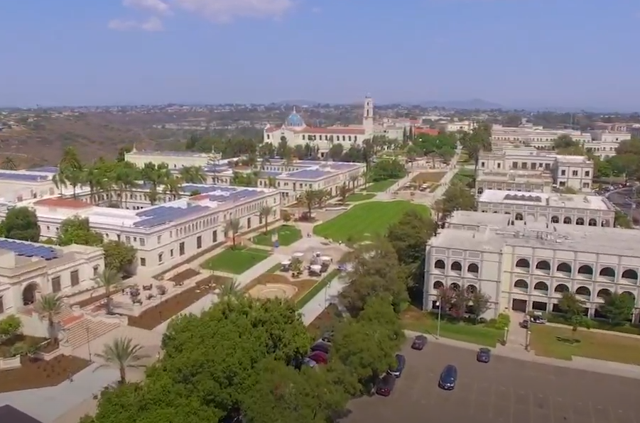
M 603 226 L 515 221 L 513 215 L 455 212 L 426 246 L 424 309 L 437 309 L 443 287 L 490 297 L 485 317 L 505 309 L 560 312 L 563 292 L 585 314 L 619 292 L 636 302 L 639 321 L 640 232 Z

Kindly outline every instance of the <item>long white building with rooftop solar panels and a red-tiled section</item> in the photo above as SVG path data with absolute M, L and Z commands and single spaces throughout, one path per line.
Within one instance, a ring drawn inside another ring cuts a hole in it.
M 280 216 L 280 194 L 276 189 L 217 185 L 188 188 L 197 189 L 200 194 L 154 206 L 148 203 L 145 193 L 127 193 L 134 197 L 122 202 L 140 204 L 140 209 L 94 205 L 88 192 L 78 194 L 77 199 L 31 199 L 0 207 L 0 219 L 4 219 L 9 207 L 31 207 L 38 216 L 40 236 L 56 238 L 65 219 L 87 218 L 91 228 L 106 240 L 122 241 L 136 248 L 139 273 L 155 274 L 203 248 L 226 241 L 224 227 L 230 219 L 239 219 L 244 232 L 263 224 L 264 206 L 271 207 L 271 221 Z

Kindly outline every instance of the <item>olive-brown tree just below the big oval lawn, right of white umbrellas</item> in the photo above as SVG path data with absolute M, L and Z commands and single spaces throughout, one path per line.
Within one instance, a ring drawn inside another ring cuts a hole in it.
M 371 295 L 389 295 L 398 312 L 406 305 L 406 274 L 389 241 L 379 238 L 360 244 L 344 261 L 350 263 L 351 270 L 346 275 L 349 285 L 340 297 L 349 311 L 361 312 Z

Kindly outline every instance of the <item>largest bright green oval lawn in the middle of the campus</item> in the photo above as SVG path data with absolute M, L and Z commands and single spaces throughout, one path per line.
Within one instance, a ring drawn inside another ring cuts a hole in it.
M 349 211 L 316 225 L 313 234 L 333 241 L 367 241 L 374 234 L 385 234 L 389 225 L 398 221 L 408 209 L 425 215 L 428 207 L 405 201 L 367 202 L 354 205 Z

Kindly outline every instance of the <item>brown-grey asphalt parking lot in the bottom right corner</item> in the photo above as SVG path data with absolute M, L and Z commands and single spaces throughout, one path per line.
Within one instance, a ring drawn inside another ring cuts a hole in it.
M 389 397 L 349 403 L 344 423 L 640 423 L 640 380 L 492 356 L 431 343 L 404 348 L 407 366 Z M 455 390 L 438 388 L 440 371 L 458 368 Z

